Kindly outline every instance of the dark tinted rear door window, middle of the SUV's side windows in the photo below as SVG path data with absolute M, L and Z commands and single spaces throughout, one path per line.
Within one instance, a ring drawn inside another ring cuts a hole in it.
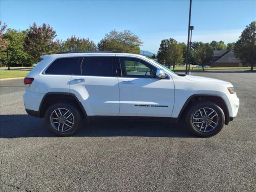
M 116 77 L 114 57 L 84 57 L 81 64 L 81 75 Z

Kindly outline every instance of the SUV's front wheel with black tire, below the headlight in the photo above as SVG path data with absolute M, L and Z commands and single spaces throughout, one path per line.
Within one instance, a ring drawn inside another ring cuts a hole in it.
M 205 115 L 204 109 L 206 111 L 206 114 L 210 114 L 210 112 L 212 112 L 212 114 L 207 117 L 207 115 Z M 212 110 L 214 110 L 215 112 L 213 112 Z M 214 117 L 210 119 L 212 116 Z M 193 119 L 193 117 L 195 119 Z M 211 120 L 215 123 L 213 123 Z M 224 122 L 225 116 L 223 110 L 217 104 L 210 101 L 197 102 L 193 104 L 192 106 L 190 106 L 186 116 L 186 123 L 188 129 L 190 130 L 190 132 L 200 137 L 211 137 L 216 135 L 218 132 L 220 132 L 220 130 L 222 130 Z

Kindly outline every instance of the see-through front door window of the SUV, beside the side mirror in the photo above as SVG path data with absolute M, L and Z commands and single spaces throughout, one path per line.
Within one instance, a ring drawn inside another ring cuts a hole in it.
M 156 68 L 147 62 L 129 57 L 120 57 L 122 77 L 154 78 Z

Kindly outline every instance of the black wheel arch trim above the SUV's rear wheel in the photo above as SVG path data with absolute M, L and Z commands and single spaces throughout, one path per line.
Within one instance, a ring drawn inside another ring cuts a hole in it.
M 67 92 L 48 92 L 44 95 L 40 103 L 39 117 L 43 118 L 48 107 L 56 102 L 68 102 L 70 104 L 74 104 L 78 107 L 78 110 L 80 110 L 84 118 L 87 116 L 82 103 L 75 94 Z

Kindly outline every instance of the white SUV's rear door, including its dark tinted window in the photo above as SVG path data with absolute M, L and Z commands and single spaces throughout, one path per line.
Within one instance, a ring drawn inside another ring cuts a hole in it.
M 85 56 L 70 80 L 88 116 L 118 116 L 119 86 L 113 56 Z

